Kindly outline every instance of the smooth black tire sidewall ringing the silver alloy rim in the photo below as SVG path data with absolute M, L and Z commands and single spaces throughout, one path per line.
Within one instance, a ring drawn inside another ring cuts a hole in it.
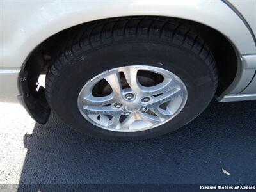
M 89 79 L 105 70 L 129 65 L 164 68 L 186 85 L 188 100 L 182 111 L 166 124 L 138 132 L 115 132 L 90 124 L 80 113 L 77 98 Z M 119 42 L 84 52 L 64 68 L 51 87 L 51 103 L 61 119 L 76 131 L 108 140 L 141 140 L 166 134 L 188 124 L 214 95 L 214 77 L 198 55 L 159 42 Z

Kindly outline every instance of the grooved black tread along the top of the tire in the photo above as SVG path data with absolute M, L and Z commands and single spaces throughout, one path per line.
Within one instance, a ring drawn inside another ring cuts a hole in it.
M 158 40 L 163 43 L 173 42 L 176 46 L 193 52 L 211 70 L 215 88 L 212 94 L 214 95 L 218 84 L 214 56 L 204 40 L 195 31 L 180 21 L 166 17 L 122 17 L 84 24 L 73 31 L 70 38 L 63 42 L 63 48 L 54 56 L 45 80 L 45 96 L 49 106 L 52 108 L 51 93 L 54 90 L 54 81 L 65 66 L 72 65 L 77 56 L 83 52 L 93 51 L 102 45 L 137 39 Z

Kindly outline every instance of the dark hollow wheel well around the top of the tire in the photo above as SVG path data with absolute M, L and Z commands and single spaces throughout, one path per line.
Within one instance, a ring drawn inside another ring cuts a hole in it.
M 123 18 L 124 17 L 122 17 L 122 19 Z M 186 24 L 191 29 L 194 29 L 209 46 L 216 60 L 218 69 L 219 79 L 216 95 L 220 95 L 232 83 L 237 72 L 237 56 L 232 44 L 220 32 L 205 26 L 204 24 L 193 22 L 191 20 L 168 18 L 178 20 L 180 23 Z M 121 17 L 115 19 L 121 19 Z M 52 56 L 63 49 L 63 43 L 69 36 L 83 28 L 84 25 L 108 21 L 109 19 L 102 19 L 73 26 L 72 28 L 65 29 L 50 36 L 38 45 L 38 47 L 31 52 L 23 67 L 23 71 L 27 74 L 26 86 L 29 95 L 35 99 L 38 97 L 42 98 L 42 94 L 44 94 L 44 92 L 42 92 L 41 88 L 39 89 L 41 92 L 38 93 L 38 77 L 41 74 L 47 73 L 47 68 L 51 65 Z M 20 88 L 20 90 L 22 90 L 22 88 Z

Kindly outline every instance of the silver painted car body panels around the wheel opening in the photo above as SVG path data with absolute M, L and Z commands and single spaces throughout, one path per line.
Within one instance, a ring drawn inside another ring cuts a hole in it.
M 29 54 L 45 39 L 92 20 L 159 15 L 199 22 L 222 33 L 238 58 L 220 102 L 256 99 L 256 1 L 1 1 L 0 100 L 17 102 L 17 79 Z M 228 76 L 228 74 L 227 74 Z

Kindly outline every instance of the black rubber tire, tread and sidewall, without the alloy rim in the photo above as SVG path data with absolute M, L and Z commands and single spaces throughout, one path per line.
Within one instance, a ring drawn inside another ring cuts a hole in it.
M 186 84 L 188 100 L 172 120 L 140 132 L 114 132 L 87 122 L 77 97 L 88 79 L 127 65 L 170 70 Z M 52 61 L 45 81 L 47 102 L 68 126 L 107 140 L 142 140 L 188 124 L 209 104 L 218 83 L 214 57 L 189 26 L 166 17 L 122 17 L 81 26 Z

